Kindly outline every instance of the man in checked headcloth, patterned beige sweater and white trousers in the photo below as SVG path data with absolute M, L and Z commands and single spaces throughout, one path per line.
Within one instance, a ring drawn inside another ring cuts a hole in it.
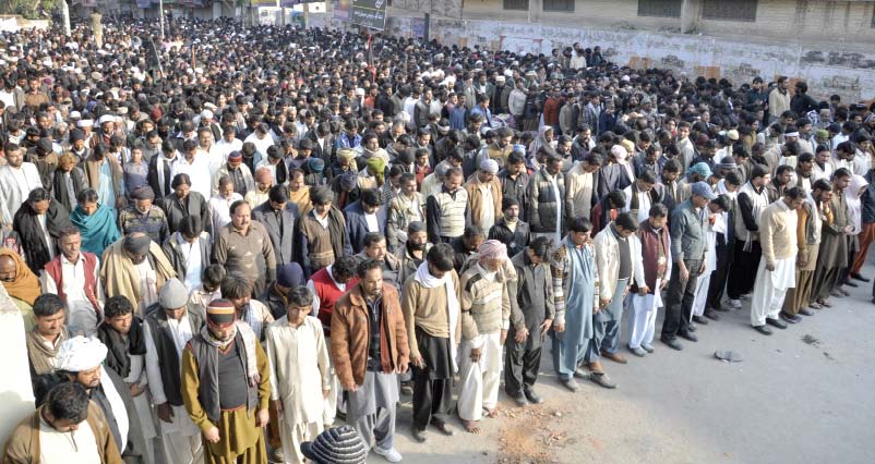
M 503 243 L 488 240 L 477 252 L 477 264 L 459 278 L 463 331 L 458 414 L 471 434 L 480 432 L 475 423 L 482 418 L 483 411 L 489 417 L 498 417 L 502 346 L 511 320 L 506 286 L 516 280 L 513 268 L 505 267 L 507 247 Z

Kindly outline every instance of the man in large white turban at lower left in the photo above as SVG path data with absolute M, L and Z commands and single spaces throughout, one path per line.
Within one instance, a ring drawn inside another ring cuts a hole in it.
M 59 374 L 85 388 L 100 406 L 112 438 L 125 462 L 145 464 L 145 440 L 128 386 L 111 369 L 103 366 L 106 345 L 97 339 L 74 337 L 58 350 Z

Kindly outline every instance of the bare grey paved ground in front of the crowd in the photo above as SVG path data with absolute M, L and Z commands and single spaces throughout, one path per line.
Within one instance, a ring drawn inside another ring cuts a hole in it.
M 866 276 L 875 276 L 867 266 Z M 457 420 L 456 437 L 409 438 L 410 407 L 400 410 L 396 447 L 407 463 L 841 463 L 875 462 L 875 305 L 871 284 L 849 289 L 802 323 L 764 337 L 747 305 L 700 327 L 698 343 L 674 352 L 655 343 L 630 364 L 606 361 L 619 383 L 562 389 L 546 350 L 540 406 L 512 407 L 484 419 L 480 436 Z M 661 323 L 661 320 L 658 322 Z M 659 327 L 659 326 L 658 326 Z M 624 325 L 625 332 L 625 325 Z M 744 361 L 715 359 L 732 349 Z M 372 456 L 369 462 L 385 462 Z

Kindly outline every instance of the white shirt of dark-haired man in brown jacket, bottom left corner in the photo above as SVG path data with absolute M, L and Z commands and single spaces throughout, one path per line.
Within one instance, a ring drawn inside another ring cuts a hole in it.
M 73 431 L 58 431 L 39 417 L 39 461 L 45 464 L 99 463 L 94 431 L 86 420 Z

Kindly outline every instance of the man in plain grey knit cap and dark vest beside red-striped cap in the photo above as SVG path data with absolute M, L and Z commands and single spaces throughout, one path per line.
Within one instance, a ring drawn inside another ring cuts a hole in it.
M 201 430 L 182 402 L 181 359 L 182 349 L 204 327 L 205 315 L 188 300 L 185 285 L 178 279 L 168 280 L 143 323 L 146 376 L 166 463 L 194 463 L 203 454 Z

